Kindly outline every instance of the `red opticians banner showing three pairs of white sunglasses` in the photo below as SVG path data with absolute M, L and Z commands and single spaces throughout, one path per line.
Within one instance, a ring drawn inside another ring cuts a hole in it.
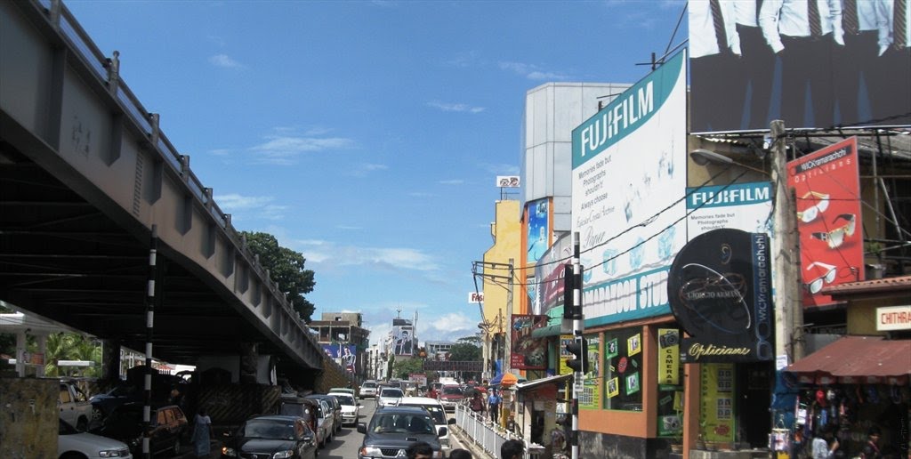
M 804 306 L 833 304 L 823 287 L 864 280 L 857 138 L 788 162 L 797 197 Z

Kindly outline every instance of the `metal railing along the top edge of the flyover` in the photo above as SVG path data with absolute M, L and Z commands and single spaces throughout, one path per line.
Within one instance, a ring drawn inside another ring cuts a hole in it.
M 143 107 L 138 97 L 127 86 L 127 83 L 120 78 L 118 52 L 115 51 L 112 57 L 105 56 L 61 0 L 32 0 L 32 3 L 44 13 L 48 23 L 56 30 L 58 35 L 72 50 L 76 51 L 75 56 L 96 77 L 97 83 L 102 87 L 107 87 L 107 91 L 117 102 L 118 107 L 127 115 L 133 128 L 147 138 L 149 150 L 159 155 L 163 163 L 168 165 L 170 172 L 184 181 L 190 194 L 197 199 L 200 207 L 208 210 L 211 219 L 224 231 L 225 236 L 234 245 L 235 250 L 250 264 L 261 279 L 261 283 L 278 299 L 281 308 L 294 319 L 297 319 L 297 312 L 292 310 L 291 304 L 285 294 L 279 290 L 278 284 L 271 280 L 268 271 L 261 266 L 245 241 L 242 240 L 240 231 L 231 225 L 230 214 L 226 214 L 220 209 L 212 198 L 211 189 L 206 188 L 189 168 L 189 157 L 181 155 L 169 138 L 160 131 L 159 116 L 150 113 Z M 299 320 L 294 320 L 293 323 L 297 325 L 302 334 L 317 349 L 320 348 L 319 343 L 312 337 L 308 327 Z M 322 352 L 320 353 L 322 354 Z

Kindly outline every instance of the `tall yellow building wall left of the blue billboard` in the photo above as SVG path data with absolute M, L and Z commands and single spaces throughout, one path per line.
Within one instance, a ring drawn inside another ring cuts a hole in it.
M 484 252 L 484 271 L 486 274 L 504 278 L 509 276 L 508 269 L 495 270 L 490 267 L 489 263 L 502 264 L 505 267 L 509 264 L 509 259 L 512 259 L 515 266 L 520 266 L 522 223 L 519 221 L 519 215 L 519 201 L 496 201 L 496 219 L 490 225 L 490 236 L 493 238 L 494 245 Z M 518 273 L 518 270 L 516 272 Z M 525 291 L 522 290 L 520 280 L 513 279 L 513 283 L 513 301 L 514 305 L 517 305 Z M 495 324 L 493 331 L 496 332 L 498 331 L 496 329 L 499 321 L 498 316 L 502 315 L 503 329 L 508 330 L 507 279 L 485 279 L 483 290 L 484 320 Z

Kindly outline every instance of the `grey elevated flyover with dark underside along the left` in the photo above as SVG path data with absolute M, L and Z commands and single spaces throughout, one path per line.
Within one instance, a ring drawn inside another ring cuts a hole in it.
M 116 53 L 56 0 L 0 2 L 0 82 L 0 301 L 144 350 L 154 274 L 156 358 L 253 349 L 312 382 L 324 352 L 120 80 Z

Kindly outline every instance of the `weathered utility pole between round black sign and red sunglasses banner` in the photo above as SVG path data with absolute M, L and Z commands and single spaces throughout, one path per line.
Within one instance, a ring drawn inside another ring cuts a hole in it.
M 787 364 L 804 357 L 804 301 L 801 295 L 800 239 L 794 191 L 788 187 L 784 121 L 769 125 L 772 134 L 772 185 L 775 246 L 773 255 L 775 355 Z

